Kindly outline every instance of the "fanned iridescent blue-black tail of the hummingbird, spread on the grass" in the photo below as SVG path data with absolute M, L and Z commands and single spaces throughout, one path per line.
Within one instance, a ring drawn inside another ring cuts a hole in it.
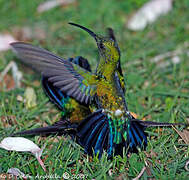
M 138 148 L 146 148 L 146 126 L 140 124 L 140 121 L 128 120 L 125 129 L 120 129 L 119 141 L 116 141 L 119 130 L 112 126 L 111 121 L 103 110 L 97 110 L 78 125 L 76 140 L 87 154 L 93 155 L 94 151 L 100 158 L 103 151 L 106 151 L 111 158 L 113 154 L 122 155 L 124 147 L 127 152 L 137 152 Z

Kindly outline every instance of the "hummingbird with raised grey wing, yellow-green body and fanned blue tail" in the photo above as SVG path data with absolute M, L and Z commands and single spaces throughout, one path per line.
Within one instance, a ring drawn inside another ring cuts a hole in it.
M 122 155 L 124 149 L 127 152 L 145 149 L 147 127 L 180 125 L 135 119 L 125 100 L 121 53 L 113 30 L 108 30 L 109 37 L 102 37 L 84 26 L 70 24 L 87 31 L 96 40 L 100 60 L 95 73 L 30 44 L 16 42 L 11 46 L 23 62 L 42 73 L 44 82 L 50 83 L 49 90 L 53 87 L 55 92 L 62 93 L 79 106 L 85 107 L 89 114 L 81 121 L 60 120 L 52 126 L 44 127 L 45 129 L 38 128 L 17 134 L 69 134 L 87 154 L 96 154 L 100 158 L 103 151 L 106 151 L 111 158 L 113 155 Z

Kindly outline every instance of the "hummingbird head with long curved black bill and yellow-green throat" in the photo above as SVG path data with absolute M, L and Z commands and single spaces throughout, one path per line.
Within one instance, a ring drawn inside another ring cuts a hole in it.
M 103 59 L 105 59 L 106 61 L 107 60 L 113 60 L 115 62 L 119 61 L 120 50 L 119 50 L 112 28 L 107 28 L 108 36 L 103 37 L 103 36 L 99 36 L 95 34 L 93 31 L 79 24 L 75 24 L 75 23 L 69 23 L 69 24 L 83 29 L 95 39 L 100 55 L 103 57 Z

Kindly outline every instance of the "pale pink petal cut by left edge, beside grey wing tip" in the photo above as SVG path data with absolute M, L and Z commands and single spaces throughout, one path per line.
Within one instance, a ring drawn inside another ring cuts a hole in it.
M 10 34 L 0 34 L 0 51 L 9 50 L 11 48 L 9 44 L 16 41 Z

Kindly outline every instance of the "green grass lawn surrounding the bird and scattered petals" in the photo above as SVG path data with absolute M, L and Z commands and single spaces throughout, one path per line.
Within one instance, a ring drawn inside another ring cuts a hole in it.
M 94 69 L 98 59 L 94 40 L 67 23 L 85 25 L 99 34 L 104 34 L 106 27 L 112 27 L 121 48 L 129 110 L 148 120 L 186 123 L 189 118 L 188 56 L 183 53 L 179 56 L 179 64 L 162 68 L 150 59 L 176 50 L 189 41 L 188 0 L 175 1 L 168 15 L 160 17 L 141 32 L 127 30 L 125 23 L 146 0 L 81 0 L 38 14 L 36 8 L 40 2 L 43 1 L 0 0 L 0 32 L 15 34 L 15 28 L 22 26 L 34 31 L 35 27 L 40 27 L 46 37 L 28 41 L 65 58 L 82 55 L 89 59 Z M 17 38 L 21 39 L 18 35 Z M 11 60 L 16 61 L 12 52 L 0 52 L 0 71 Z M 60 117 L 56 108 L 48 103 L 41 85 L 33 83 L 38 82 L 40 76 L 20 64 L 19 69 L 24 73 L 23 86 L 9 92 L 1 90 L 0 140 L 15 131 L 52 124 Z M 24 95 L 27 86 L 34 87 L 37 94 L 37 106 L 29 110 L 17 100 L 18 95 Z M 147 162 L 150 174 L 145 171 L 141 179 L 187 179 L 189 172 L 184 166 L 189 155 L 188 145 L 172 128 L 150 128 L 148 132 L 149 144 L 145 152 L 132 154 L 129 158 L 126 155 L 123 158 L 116 156 L 113 160 L 107 160 L 105 154 L 100 160 L 91 159 L 69 137 L 32 137 L 30 139 L 40 147 L 46 144 L 42 158 L 47 173 L 30 153 L 0 149 L 0 174 L 17 167 L 33 178 L 40 175 L 62 176 L 67 172 L 75 179 L 82 179 L 81 174 L 84 179 L 131 179 Z

